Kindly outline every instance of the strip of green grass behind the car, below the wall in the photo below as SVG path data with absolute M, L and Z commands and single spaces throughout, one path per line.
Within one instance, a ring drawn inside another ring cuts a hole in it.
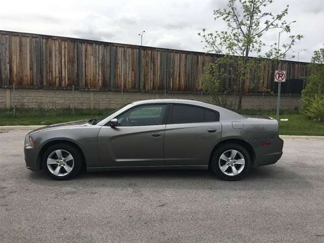
M 99 118 L 112 110 L 105 109 L 17 109 L 14 115 L 12 110 L 0 109 L 0 126 L 16 125 L 51 125 L 72 120 Z M 298 111 L 283 111 L 280 118 L 288 121 L 279 121 L 281 135 L 324 136 L 324 121 L 307 119 Z M 275 117 L 275 111 L 244 110 L 246 116 Z

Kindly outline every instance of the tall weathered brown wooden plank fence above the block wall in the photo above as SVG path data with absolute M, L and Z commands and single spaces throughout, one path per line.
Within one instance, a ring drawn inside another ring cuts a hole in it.
M 0 85 L 129 90 L 201 90 L 204 68 L 215 54 L 141 47 L 85 39 L 0 30 Z M 264 65 L 262 79 L 251 74 L 245 93 L 275 91 L 273 71 L 287 69 L 284 93 L 300 93 L 307 63 L 282 61 Z M 237 79 L 224 87 L 237 86 Z

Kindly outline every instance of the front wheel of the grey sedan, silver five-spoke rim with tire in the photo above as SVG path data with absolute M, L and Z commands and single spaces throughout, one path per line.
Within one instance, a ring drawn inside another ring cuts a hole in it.
M 43 169 L 55 180 L 68 180 L 82 168 L 83 158 L 77 148 L 59 143 L 49 147 L 43 156 Z

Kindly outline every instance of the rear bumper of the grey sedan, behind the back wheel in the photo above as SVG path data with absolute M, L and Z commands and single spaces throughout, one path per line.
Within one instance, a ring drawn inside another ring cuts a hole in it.
M 275 164 L 282 155 L 284 140 L 277 137 L 271 141 L 270 146 L 259 146 L 256 149 L 255 166 L 266 166 Z

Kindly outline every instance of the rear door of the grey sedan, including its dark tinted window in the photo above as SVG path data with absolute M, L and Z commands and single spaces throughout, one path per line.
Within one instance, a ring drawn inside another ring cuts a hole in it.
M 165 165 L 208 165 L 221 138 L 219 113 L 200 106 L 173 104 L 165 130 Z

